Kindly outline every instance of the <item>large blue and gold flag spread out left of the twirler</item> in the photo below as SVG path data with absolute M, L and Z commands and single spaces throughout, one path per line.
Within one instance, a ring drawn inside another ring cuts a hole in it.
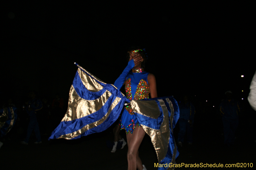
M 49 139 L 77 139 L 102 132 L 119 117 L 129 100 L 114 85 L 106 84 L 76 64 L 69 91 L 68 110 Z

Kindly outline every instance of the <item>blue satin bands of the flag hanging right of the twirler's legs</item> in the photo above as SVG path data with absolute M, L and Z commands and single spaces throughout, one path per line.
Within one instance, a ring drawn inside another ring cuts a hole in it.
M 167 103 L 167 101 L 165 100 L 166 98 L 171 100 L 172 105 L 173 105 L 173 110 L 174 110 L 173 120 L 170 120 L 171 108 L 169 107 L 169 103 Z M 160 110 L 159 117 L 157 119 L 153 119 L 153 118 L 149 118 L 147 116 L 140 115 L 135 112 L 134 112 L 134 114 L 136 115 L 136 117 L 141 125 L 148 126 L 152 129 L 160 129 L 161 123 L 163 122 L 164 115 L 163 115 L 163 110 L 162 110 L 162 107 L 160 106 L 158 99 L 164 100 L 164 104 L 168 109 L 169 125 L 170 125 L 170 139 L 169 139 L 169 146 L 168 146 L 167 154 L 166 154 L 165 158 L 159 164 L 166 164 L 166 163 L 169 164 L 172 161 L 172 155 L 173 155 L 173 151 L 175 148 L 175 141 L 174 141 L 172 129 L 175 128 L 175 125 L 178 122 L 179 116 L 180 116 L 180 110 L 179 110 L 177 101 L 172 96 L 171 97 L 158 97 L 158 98 L 153 98 L 153 99 L 143 99 L 143 100 L 155 100 L 156 101 L 156 103 L 159 107 L 159 110 Z M 171 128 L 171 121 L 172 121 L 172 128 Z M 178 156 L 179 156 L 179 152 L 177 150 L 175 159 Z M 158 170 L 166 170 L 166 169 L 167 169 L 167 167 L 159 167 L 158 168 Z

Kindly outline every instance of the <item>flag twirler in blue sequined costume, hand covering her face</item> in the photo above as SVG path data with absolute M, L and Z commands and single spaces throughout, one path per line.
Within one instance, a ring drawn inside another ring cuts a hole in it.
M 126 97 L 132 99 L 147 99 L 157 97 L 156 78 L 153 74 L 144 71 L 146 62 L 145 51 L 139 47 L 132 47 L 128 51 L 129 62 L 134 61 L 134 67 L 125 78 Z M 145 136 L 145 131 L 133 113 L 131 106 L 126 106 L 120 120 L 121 129 L 125 129 L 128 143 L 128 170 L 146 170 L 139 157 L 139 147 Z

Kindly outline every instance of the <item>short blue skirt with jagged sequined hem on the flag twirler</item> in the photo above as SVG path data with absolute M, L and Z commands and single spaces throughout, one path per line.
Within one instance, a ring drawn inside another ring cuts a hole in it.
M 119 125 L 121 126 L 121 129 L 124 129 L 126 131 L 126 133 L 132 133 L 134 128 L 136 128 L 137 126 L 140 127 L 136 115 L 129 114 L 126 109 L 123 109 L 123 114 L 120 119 Z

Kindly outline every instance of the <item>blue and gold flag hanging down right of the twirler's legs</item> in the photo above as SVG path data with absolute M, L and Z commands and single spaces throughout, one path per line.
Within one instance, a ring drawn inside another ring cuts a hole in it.
M 132 100 L 131 106 L 141 127 L 151 138 L 156 150 L 160 170 L 174 169 L 179 156 L 173 136 L 173 128 L 180 117 L 177 101 L 171 97 Z

